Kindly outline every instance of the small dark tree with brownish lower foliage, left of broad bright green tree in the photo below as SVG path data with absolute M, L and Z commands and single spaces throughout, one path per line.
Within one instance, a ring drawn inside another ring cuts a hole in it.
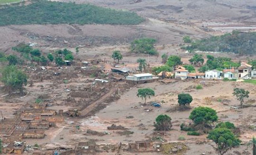
M 154 126 L 156 131 L 170 131 L 172 129 L 172 119 L 166 114 L 158 115 L 155 122 Z

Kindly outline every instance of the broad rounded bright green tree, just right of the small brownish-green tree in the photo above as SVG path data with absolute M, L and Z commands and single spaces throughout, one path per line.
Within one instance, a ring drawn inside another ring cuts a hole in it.
M 205 126 L 210 125 L 213 122 L 217 122 L 218 116 L 216 111 L 212 108 L 199 106 L 193 109 L 189 119 L 191 119 L 196 125 L 202 124 Z

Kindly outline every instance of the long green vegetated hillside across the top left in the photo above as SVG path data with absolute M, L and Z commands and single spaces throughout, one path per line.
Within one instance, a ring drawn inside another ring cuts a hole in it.
M 139 24 L 144 19 L 136 13 L 75 4 L 34 0 L 30 5 L 0 9 L 0 25 L 9 24 Z

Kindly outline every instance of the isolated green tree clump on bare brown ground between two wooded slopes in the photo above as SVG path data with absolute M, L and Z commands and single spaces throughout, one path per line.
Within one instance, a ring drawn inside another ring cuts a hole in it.
M 136 39 L 131 42 L 130 49 L 134 53 L 144 53 L 150 55 L 157 55 L 157 51 L 154 48 L 156 40 L 153 38 Z

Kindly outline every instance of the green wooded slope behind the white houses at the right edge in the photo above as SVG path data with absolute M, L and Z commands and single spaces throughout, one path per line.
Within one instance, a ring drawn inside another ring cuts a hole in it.
M 183 47 L 189 51 L 233 52 L 240 55 L 256 54 L 256 32 L 226 33 L 220 36 L 192 41 L 190 46 Z

